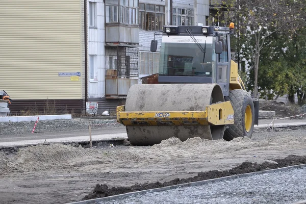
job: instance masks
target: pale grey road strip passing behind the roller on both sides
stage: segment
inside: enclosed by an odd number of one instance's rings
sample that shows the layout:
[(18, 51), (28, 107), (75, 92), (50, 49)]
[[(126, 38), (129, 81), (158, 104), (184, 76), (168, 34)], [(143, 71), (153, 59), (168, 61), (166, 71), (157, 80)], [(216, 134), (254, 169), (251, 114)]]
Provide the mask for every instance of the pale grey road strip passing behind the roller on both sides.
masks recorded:
[[(254, 128), (268, 127), (272, 119), (264, 119), (259, 121), (259, 125)], [(292, 126), (292, 125), (306, 125), (306, 119), (302, 120), (275, 120), (274, 126)], [(105, 127), (104, 129), (92, 129), (92, 140), (108, 140), (114, 138), (127, 139), (125, 127)], [(56, 133), (35, 133), (23, 135), (10, 135), (9, 137), (0, 138), (0, 146), (17, 146), (29, 145), (50, 142), (80, 142), (89, 140), (88, 130), (78, 130), (69, 132), (56, 132)]]

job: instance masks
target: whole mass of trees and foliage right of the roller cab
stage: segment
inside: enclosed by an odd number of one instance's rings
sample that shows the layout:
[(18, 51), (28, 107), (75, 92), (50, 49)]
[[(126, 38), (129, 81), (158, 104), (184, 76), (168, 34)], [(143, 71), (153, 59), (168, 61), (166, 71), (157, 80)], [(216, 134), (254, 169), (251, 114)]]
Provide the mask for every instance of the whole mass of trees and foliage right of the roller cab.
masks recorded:
[[(213, 17), (220, 25), (230, 20), (236, 24), (231, 47), (239, 52), (240, 59), (248, 62), (247, 74), (239, 73), (246, 88), (253, 90), (254, 95), (259, 92), (260, 96), (269, 98), (297, 93), (299, 103), (305, 103), (306, 1), (211, 2), (218, 4)], [(233, 10), (235, 20), (223, 17)]]

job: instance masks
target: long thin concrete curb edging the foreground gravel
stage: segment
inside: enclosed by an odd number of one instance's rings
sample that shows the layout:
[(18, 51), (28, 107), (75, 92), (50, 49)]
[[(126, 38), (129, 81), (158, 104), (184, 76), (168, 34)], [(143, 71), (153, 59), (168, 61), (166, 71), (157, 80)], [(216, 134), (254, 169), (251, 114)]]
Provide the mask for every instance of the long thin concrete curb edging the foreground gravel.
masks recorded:
[[(125, 197), (125, 196), (130, 196), (130, 195), (145, 194), (147, 192), (160, 192), (160, 191), (167, 191), (167, 190), (171, 190), (171, 189), (175, 189), (175, 188), (179, 188), (179, 187), (199, 186), (199, 185), (203, 185), (203, 184), (207, 184), (207, 183), (236, 179), (238, 177), (247, 177), (247, 176), (263, 174), (263, 173), (281, 172), (281, 171), (286, 171), (286, 170), (289, 170), (289, 169), (297, 169), (297, 168), (303, 168), (303, 167), (306, 167), (306, 164), (288, 166), (288, 167), (284, 167), (284, 168), (271, 169), (271, 170), (265, 170), (265, 171), (257, 171), (257, 172), (251, 172), (251, 173), (225, 176), (225, 177), (221, 177), (221, 178), (218, 178), (218, 179), (210, 179), (210, 180), (199, 181), (199, 182), (190, 182), (190, 183), (186, 183), (186, 184), (167, 186), (167, 187), (163, 187), (163, 188), (155, 188), (155, 189), (148, 189), (148, 190), (131, 192), (131, 193), (124, 193), (124, 194), (113, 195), (113, 196), (104, 197), (104, 198), (96, 198), (96, 199), (84, 200), (84, 201), (79, 201), (79, 202), (70, 202), (68, 204), (91, 204), (91, 203), (97, 203), (97, 202), (100, 202), (100, 201), (110, 201), (110, 200), (113, 200), (113, 199), (118, 199), (118, 198), (122, 198), (122, 197)], [(298, 202), (298, 203), (302, 204), (304, 202), (301, 202), (301, 203)], [(295, 203), (293, 203), (293, 204), (295, 204)]]

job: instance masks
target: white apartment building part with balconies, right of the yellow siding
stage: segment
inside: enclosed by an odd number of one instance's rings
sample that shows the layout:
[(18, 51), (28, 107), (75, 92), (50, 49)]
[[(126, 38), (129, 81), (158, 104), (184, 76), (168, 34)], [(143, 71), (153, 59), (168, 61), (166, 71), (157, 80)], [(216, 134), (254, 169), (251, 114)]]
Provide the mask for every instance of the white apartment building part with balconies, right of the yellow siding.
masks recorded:
[[(100, 0), (88, 2), (89, 19), (97, 19), (97, 24), (88, 28), (92, 70), (88, 100), (98, 102), (100, 112), (124, 104), (132, 85), (158, 73), (161, 36), (155, 36), (157, 31), (165, 24), (206, 25), (210, 13), (209, 0), (105, 0), (103, 4)], [(151, 53), (154, 37), (159, 47)]]

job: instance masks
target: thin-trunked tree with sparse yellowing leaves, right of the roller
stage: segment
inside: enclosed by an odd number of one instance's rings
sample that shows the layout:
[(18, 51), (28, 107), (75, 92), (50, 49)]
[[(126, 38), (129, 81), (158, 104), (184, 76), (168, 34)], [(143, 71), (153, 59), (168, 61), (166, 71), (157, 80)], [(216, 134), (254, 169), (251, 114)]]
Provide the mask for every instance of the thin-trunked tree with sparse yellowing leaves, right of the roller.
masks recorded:
[(239, 0), (237, 16), (239, 35), (244, 36), (254, 73), (254, 97), (258, 97), (258, 71), (261, 50), (273, 33), (286, 33), (289, 38), (305, 24), (304, 1)]

